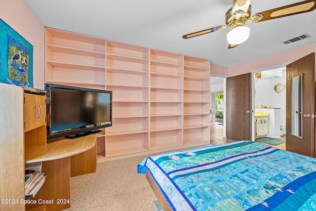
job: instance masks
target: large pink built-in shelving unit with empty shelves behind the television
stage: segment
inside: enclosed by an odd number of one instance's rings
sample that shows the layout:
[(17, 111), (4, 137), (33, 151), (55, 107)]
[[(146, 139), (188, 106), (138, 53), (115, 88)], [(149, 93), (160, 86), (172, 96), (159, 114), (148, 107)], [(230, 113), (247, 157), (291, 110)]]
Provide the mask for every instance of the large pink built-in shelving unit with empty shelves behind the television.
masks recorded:
[(45, 82), (113, 91), (98, 159), (209, 143), (210, 61), (46, 28)]

